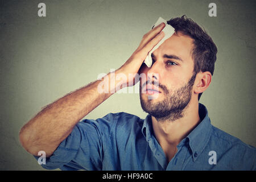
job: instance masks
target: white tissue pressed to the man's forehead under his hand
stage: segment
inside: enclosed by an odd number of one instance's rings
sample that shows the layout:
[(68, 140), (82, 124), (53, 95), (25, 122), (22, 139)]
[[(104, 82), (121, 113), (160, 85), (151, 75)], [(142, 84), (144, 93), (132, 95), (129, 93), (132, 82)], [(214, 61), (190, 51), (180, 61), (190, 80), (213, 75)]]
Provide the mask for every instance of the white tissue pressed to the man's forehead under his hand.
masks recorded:
[(144, 60), (144, 63), (147, 65), (148, 68), (151, 67), (151, 65), (152, 65), (151, 53), (154, 52), (155, 49), (157, 49), (164, 42), (164, 40), (170, 38), (175, 32), (174, 27), (170, 26), (170, 24), (167, 24), (167, 21), (161, 17), (159, 17), (159, 19), (156, 21), (156, 23), (154, 24), (154, 27), (158, 26), (162, 22), (164, 22), (164, 24), (166, 24), (166, 26), (162, 30), (164, 32), (164, 37), (163, 37), (163, 39), (160, 40), (160, 42), (158, 44), (155, 45), (155, 47), (152, 48), (152, 50), (150, 52), (148, 52), (148, 55), (147, 55), (146, 59)]

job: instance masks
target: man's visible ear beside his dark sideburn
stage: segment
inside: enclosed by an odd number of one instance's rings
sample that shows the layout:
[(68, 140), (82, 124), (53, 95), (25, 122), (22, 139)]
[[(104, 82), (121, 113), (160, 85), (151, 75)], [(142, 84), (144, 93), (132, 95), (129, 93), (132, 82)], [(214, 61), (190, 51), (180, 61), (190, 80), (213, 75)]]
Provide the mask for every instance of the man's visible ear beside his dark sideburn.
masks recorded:
[(197, 73), (195, 84), (194, 84), (194, 93), (199, 94), (204, 92), (212, 81), (212, 74), (210, 72), (199, 72)]

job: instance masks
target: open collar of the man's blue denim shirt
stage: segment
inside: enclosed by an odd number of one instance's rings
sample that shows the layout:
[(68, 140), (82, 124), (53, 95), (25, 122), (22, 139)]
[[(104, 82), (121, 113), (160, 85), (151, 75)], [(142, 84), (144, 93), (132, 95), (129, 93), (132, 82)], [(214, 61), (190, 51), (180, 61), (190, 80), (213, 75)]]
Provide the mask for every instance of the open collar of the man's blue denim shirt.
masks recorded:
[[(180, 144), (184, 144), (185, 140), (189, 141), (189, 147), (192, 151), (193, 161), (195, 161), (204, 150), (210, 139), (210, 133), (212, 132), (212, 125), (210, 124), (210, 118), (208, 117), (208, 110), (203, 104), (200, 103), (199, 116), (201, 119), (199, 125), (197, 125), (195, 129), (193, 129), (191, 133), (180, 142)], [(144, 137), (146, 137), (147, 141), (151, 140), (152, 131), (152, 119), (151, 115), (148, 114), (144, 119), (142, 126), (142, 134)]]

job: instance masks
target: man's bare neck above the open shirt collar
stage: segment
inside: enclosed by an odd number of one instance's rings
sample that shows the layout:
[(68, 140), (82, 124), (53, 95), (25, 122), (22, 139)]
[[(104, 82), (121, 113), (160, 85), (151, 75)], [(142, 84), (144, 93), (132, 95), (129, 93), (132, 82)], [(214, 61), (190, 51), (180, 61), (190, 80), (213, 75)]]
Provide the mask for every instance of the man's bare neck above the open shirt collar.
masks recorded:
[(191, 101), (185, 107), (183, 111), (183, 117), (176, 119), (175, 121), (157, 121), (155, 117), (152, 117), (152, 127), (156, 139), (164, 152), (167, 154), (168, 150), (172, 148), (172, 152), (176, 151), (177, 144), (187, 137), (189, 133), (200, 123), (199, 117), (199, 102), (198, 100)]

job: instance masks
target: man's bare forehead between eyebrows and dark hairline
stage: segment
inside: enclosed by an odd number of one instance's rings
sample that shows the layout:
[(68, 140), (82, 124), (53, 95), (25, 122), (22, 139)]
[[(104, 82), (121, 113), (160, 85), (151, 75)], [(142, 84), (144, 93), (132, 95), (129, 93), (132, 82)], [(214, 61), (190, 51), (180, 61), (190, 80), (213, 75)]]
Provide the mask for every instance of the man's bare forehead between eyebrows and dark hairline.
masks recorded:
[(177, 32), (159, 47), (162, 54), (174, 54), (183, 60), (192, 59), (193, 39)]

